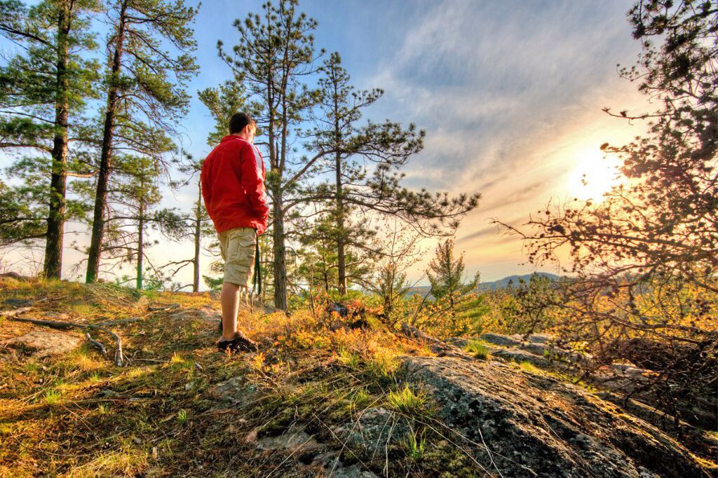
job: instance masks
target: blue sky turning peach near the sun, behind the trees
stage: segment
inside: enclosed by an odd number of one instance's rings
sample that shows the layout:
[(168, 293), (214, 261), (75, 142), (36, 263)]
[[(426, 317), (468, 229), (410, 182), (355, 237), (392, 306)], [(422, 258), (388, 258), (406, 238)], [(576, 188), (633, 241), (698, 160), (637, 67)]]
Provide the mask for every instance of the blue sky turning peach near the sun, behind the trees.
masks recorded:
[[(197, 157), (210, 151), (206, 137), (213, 124), (196, 92), (230, 78), (216, 43), (236, 44), (233, 20), (259, 11), (263, 2), (202, 2), (195, 24), (200, 72), (190, 83), (190, 112), (180, 121), (182, 146)], [(632, 4), (302, 0), (300, 9), (318, 22), (317, 47), (340, 52), (357, 88), (385, 90), (366, 118), (426, 130), (424, 150), (411, 159), (405, 184), (452, 195), (481, 193), (456, 243), (467, 271), (492, 281), (534, 270), (525, 264), (521, 241), (501, 233), (492, 220), (521, 225), (549, 200), (597, 198), (618, 180), (615, 159), (604, 159), (599, 147), (630, 141), (640, 126), (611, 118), (602, 108), (646, 107), (637, 85), (617, 74), (617, 64), (632, 65), (639, 52), (625, 16)], [(191, 187), (167, 190), (164, 205), (189, 209), (195, 197)], [(157, 263), (192, 255), (189, 243), (157, 239), (151, 252)], [(87, 238), (80, 234), (76, 240), (81, 245)], [(432, 246), (424, 244), (427, 250)], [(80, 258), (65, 251), (67, 278)], [(203, 261), (204, 269), (210, 259)], [(411, 278), (419, 279), (421, 265), (415, 270)], [(179, 278), (190, 282), (189, 268)]]

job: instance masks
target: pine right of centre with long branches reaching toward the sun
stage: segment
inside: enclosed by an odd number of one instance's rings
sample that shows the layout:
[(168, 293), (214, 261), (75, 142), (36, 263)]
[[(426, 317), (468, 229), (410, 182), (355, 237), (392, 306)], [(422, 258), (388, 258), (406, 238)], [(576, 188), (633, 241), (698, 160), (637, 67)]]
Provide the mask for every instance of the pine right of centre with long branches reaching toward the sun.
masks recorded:
[(356, 90), (341, 62), (335, 52), (322, 65), (320, 113), (309, 135), (309, 149), (325, 159), (325, 172), (333, 174), (333, 181), (313, 188), (307, 196), (326, 195), (330, 200), (327, 211), (335, 224), (338, 287), (345, 294), (347, 250), (367, 247), (373, 236), (368, 217), (398, 217), (425, 235), (443, 235), (477, 205), (478, 195), (449, 199), (446, 193), (431, 195), (402, 187), (400, 170), (423, 148), (424, 131), (388, 120), (360, 125), (364, 109), (379, 100), (383, 90)]

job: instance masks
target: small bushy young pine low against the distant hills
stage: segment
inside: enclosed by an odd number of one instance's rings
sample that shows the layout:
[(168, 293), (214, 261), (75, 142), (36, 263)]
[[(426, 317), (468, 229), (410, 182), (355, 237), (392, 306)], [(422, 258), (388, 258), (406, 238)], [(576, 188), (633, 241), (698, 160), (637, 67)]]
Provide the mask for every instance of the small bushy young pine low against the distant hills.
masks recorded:
[(444, 328), (449, 335), (465, 334), (488, 311), (484, 297), (476, 293), (479, 273), (467, 282), (464, 281), (464, 273), (464, 256), (454, 256), (454, 240), (439, 243), (426, 276), (439, 309), (448, 314), (449, 327)]

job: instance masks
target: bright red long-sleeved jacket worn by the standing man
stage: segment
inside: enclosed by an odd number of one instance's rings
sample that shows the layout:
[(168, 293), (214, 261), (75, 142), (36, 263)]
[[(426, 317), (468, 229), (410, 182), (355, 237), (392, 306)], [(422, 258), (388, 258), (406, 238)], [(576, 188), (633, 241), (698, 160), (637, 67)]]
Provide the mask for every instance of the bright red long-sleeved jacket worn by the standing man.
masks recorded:
[(239, 136), (225, 136), (202, 164), (205, 207), (218, 233), (233, 228), (267, 228), (264, 161), (256, 146)]

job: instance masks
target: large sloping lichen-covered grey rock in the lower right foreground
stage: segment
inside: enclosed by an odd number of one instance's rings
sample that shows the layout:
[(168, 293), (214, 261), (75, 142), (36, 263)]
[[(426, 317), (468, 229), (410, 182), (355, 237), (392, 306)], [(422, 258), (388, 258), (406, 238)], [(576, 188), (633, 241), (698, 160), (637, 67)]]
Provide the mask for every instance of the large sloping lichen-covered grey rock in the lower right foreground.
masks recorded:
[(460, 357), (409, 357), (404, 370), (437, 402), (477, 476), (710, 476), (658, 428), (554, 378)]

